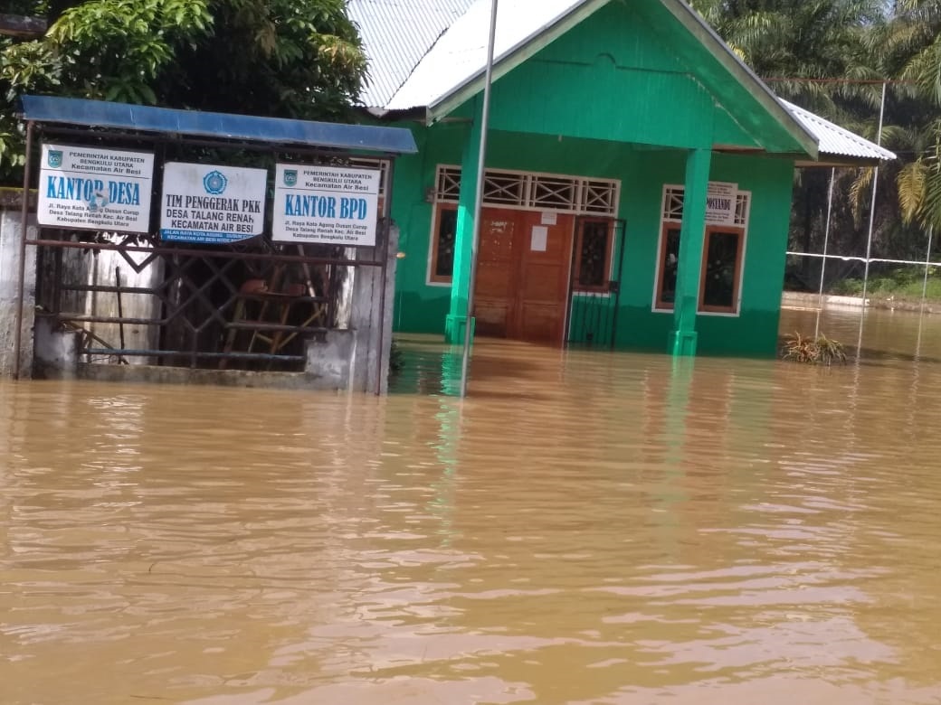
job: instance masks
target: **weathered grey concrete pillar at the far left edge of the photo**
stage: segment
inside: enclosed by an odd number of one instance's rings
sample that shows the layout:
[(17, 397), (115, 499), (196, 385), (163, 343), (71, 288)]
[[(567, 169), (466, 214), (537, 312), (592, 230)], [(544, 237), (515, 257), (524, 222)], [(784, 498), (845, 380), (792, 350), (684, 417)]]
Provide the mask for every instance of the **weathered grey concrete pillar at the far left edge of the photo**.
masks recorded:
[[(12, 377), (16, 362), (16, 317), (20, 293), (21, 196), (0, 194), (0, 377)], [(36, 238), (35, 216), (29, 217), (27, 235)], [(20, 341), (20, 377), (33, 368), (33, 321), (36, 310), (36, 248), (26, 247), (23, 327)]]

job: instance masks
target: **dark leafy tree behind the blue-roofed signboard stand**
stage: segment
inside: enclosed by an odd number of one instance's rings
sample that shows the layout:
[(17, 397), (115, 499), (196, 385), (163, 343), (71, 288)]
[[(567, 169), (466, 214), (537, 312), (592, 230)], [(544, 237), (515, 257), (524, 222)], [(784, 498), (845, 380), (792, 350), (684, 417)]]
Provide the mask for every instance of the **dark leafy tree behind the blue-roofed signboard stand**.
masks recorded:
[(366, 60), (343, 0), (19, 0), (41, 39), (0, 38), (0, 182), (32, 93), (285, 118), (349, 118)]

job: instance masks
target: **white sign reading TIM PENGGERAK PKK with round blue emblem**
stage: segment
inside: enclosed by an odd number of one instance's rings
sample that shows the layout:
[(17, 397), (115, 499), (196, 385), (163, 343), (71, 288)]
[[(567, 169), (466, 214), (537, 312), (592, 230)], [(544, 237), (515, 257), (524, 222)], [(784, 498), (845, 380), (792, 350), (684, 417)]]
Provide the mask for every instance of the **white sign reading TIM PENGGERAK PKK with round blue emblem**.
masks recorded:
[(160, 239), (223, 244), (264, 231), (266, 169), (219, 164), (164, 164)]

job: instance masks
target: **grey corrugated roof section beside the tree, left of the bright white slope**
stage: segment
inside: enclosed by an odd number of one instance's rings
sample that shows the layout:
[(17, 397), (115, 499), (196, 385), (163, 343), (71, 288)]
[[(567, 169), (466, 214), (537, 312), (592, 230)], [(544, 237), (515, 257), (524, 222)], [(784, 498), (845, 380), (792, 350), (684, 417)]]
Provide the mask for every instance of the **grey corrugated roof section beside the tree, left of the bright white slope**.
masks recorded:
[(359, 25), (369, 57), (360, 101), (385, 108), (395, 91), (449, 26), (474, 0), (350, 0), (347, 12)]

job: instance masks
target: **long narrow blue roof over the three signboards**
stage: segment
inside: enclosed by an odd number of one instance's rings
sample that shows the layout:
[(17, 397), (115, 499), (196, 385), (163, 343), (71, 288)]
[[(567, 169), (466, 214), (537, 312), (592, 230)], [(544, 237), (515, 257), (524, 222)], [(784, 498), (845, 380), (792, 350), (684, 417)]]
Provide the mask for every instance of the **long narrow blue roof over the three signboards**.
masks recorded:
[(392, 154), (413, 154), (418, 151), (411, 131), (400, 127), (203, 113), (197, 110), (54, 96), (22, 96), (20, 105), (23, 118), (36, 122)]

